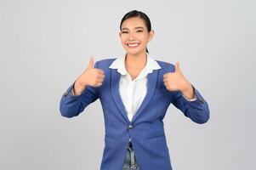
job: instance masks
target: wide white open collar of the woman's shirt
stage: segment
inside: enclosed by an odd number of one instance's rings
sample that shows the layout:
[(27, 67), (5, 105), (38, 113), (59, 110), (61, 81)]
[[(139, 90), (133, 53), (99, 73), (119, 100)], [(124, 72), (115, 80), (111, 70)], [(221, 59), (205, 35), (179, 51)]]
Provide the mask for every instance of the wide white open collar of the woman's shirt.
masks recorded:
[[(122, 57), (115, 59), (112, 64), (109, 66), (111, 69), (117, 69), (117, 72), (122, 74), (123, 76), (127, 75), (128, 72), (126, 71), (125, 68), (125, 58), (127, 54), (124, 54)], [(150, 54), (146, 53), (146, 65), (143, 68), (142, 71), (140, 71), (139, 76), (136, 77), (135, 79), (143, 78), (147, 74), (151, 73), (153, 70), (158, 70), (161, 69), (162, 67), (158, 65), (156, 60), (152, 59)]]

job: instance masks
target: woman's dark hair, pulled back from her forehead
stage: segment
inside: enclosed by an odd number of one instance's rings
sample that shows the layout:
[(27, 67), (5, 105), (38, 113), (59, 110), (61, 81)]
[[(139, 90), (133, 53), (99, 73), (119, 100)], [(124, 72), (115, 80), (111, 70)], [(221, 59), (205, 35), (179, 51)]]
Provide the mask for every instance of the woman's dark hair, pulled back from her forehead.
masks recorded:
[[(120, 23), (120, 31), (122, 29), (121, 28), (122, 22), (124, 20), (128, 20), (129, 18), (132, 18), (132, 17), (139, 17), (140, 19), (144, 20), (147, 31), (151, 31), (151, 20), (150, 20), (150, 18), (145, 13), (143, 13), (141, 11), (138, 11), (138, 10), (132, 10), (132, 11), (128, 12), (127, 14), (125, 14), (122, 17), (122, 20), (121, 20), (121, 23)], [(148, 51), (147, 48), (146, 48), (146, 52), (149, 54), (149, 51)]]

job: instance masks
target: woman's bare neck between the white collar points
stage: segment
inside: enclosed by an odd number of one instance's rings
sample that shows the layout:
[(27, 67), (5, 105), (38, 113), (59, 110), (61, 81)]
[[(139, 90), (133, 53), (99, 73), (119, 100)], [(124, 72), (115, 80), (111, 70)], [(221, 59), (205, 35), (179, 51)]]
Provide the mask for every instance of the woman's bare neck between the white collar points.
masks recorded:
[(144, 68), (147, 62), (146, 53), (126, 54), (125, 65), (127, 68)]

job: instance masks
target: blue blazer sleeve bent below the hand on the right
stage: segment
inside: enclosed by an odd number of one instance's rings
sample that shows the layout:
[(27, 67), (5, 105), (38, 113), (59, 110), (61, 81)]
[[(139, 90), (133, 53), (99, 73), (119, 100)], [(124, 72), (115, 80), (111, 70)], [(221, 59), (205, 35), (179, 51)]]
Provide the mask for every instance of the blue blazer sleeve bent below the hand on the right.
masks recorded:
[(173, 105), (184, 113), (185, 116), (190, 117), (193, 122), (202, 124), (208, 122), (210, 111), (208, 102), (202, 98), (199, 91), (192, 85), (196, 94), (196, 100), (189, 101), (183, 97), (181, 92), (176, 91), (172, 99)]

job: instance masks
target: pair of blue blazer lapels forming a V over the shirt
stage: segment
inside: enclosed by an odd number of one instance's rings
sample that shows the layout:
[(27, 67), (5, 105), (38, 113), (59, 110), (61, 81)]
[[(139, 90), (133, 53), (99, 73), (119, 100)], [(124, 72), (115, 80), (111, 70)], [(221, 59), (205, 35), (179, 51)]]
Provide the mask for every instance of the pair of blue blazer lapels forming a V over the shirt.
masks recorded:
[[(153, 70), (151, 73), (147, 75), (147, 93), (145, 95), (145, 98), (143, 99), (141, 105), (139, 105), (138, 111), (136, 111), (133, 119), (131, 122), (134, 122), (134, 119), (139, 116), (139, 114), (145, 109), (145, 106), (148, 105), (148, 103), (151, 100), (152, 95), (154, 94), (155, 88), (156, 88), (156, 82), (157, 82), (157, 73), (158, 70)], [(130, 123), (125, 105), (122, 103), (121, 96), (119, 94), (119, 82), (120, 82), (121, 74), (117, 72), (117, 69), (111, 69), (111, 95), (114, 99), (118, 110), (121, 112), (122, 117), (126, 120), (126, 122)]]

